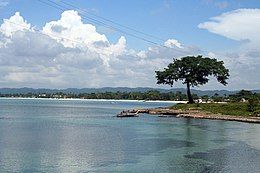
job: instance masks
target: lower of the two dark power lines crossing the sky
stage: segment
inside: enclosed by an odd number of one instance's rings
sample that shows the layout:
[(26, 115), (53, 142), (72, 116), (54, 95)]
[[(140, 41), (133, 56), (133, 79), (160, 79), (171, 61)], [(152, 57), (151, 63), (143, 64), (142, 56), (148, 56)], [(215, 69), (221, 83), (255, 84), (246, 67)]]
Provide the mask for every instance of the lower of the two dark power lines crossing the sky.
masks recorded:
[[(50, 7), (56, 8), (56, 9), (58, 9), (58, 10), (61, 10), (61, 11), (70, 10), (70, 9), (68, 9), (67, 7), (64, 7), (64, 6), (62, 6), (62, 5), (60, 5), (60, 4), (56, 3), (56, 2), (53, 2), (53, 1), (51, 1), (51, 0), (47, 0), (49, 3), (48, 3), (48, 2), (45, 2), (45, 1), (43, 1), (43, 0), (38, 0), (38, 1), (41, 2), (41, 3), (43, 3), (43, 4), (45, 4), (45, 5), (48, 5), (48, 6), (50, 6)], [(50, 3), (51, 3), (51, 4), (50, 4)], [(54, 4), (54, 5), (53, 5), (53, 4)], [(151, 43), (151, 44), (160, 46), (160, 47), (168, 48), (168, 47), (166, 47), (166, 46), (164, 46), (164, 45), (161, 45), (161, 44), (159, 44), (159, 43), (157, 43), (157, 42), (151, 41), (151, 40), (146, 39), (146, 38), (144, 38), (144, 37), (137, 36), (137, 35), (135, 35), (135, 34), (131, 34), (131, 33), (129, 33), (129, 32), (126, 32), (126, 31), (124, 31), (124, 30), (121, 30), (121, 29), (119, 29), (119, 28), (116, 28), (116, 27), (114, 27), (114, 26), (111, 26), (111, 25), (109, 25), (109, 24), (106, 24), (106, 23), (104, 23), (104, 22), (102, 22), (102, 21), (99, 21), (99, 20), (97, 20), (97, 19), (94, 19), (94, 18), (92, 18), (92, 17), (85, 16), (84, 14), (81, 14), (81, 17), (82, 17), (83, 19), (85, 19), (85, 20), (89, 20), (89, 21), (92, 21), (92, 22), (94, 22), (94, 23), (101, 24), (101, 25), (103, 25), (103, 26), (105, 26), (105, 27), (107, 27), (107, 28), (116, 30), (116, 31), (121, 32), (121, 33), (123, 33), (123, 34), (125, 34), (125, 35), (132, 36), (132, 37), (134, 37), (134, 38), (140, 39), (140, 40), (142, 40), (142, 41), (145, 41), (145, 42), (148, 42), (148, 43)]]

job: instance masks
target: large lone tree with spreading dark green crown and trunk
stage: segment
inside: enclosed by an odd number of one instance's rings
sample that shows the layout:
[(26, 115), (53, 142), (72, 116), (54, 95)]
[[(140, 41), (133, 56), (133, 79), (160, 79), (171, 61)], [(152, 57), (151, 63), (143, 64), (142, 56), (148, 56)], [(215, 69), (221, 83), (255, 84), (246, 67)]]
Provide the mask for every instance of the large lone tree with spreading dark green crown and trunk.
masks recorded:
[(190, 88), (204, 85), (209, 81), (209, 76), (217, 78), (218, 82), (227, 85), (229, 70), (225, 68), (223, 61), (199, 56), (187, 56), (181, 59), (173, 59), (163, 71), (155, 71), (157, 84), (168, 84), (171, 87), (174, 82), (182, 81), (187, 86), (189, 103), (194, 103)]

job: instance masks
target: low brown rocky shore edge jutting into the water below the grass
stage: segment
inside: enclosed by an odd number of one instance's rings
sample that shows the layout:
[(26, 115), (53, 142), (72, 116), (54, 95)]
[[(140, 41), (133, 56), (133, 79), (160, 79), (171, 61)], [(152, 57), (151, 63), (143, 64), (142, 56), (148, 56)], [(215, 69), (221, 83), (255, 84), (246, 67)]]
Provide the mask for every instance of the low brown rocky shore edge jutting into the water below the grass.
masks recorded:
[(117, 117), (138, 117), (139, 114), (158, 115), (159, 117), (177, 117), (177, 118), (196, 118), (196, 119), (213, 119), (226, 121), (240, 121), (247, 123), (259, 123), (260, 117), (243, 117), (234, 115), (213, 114), (211, 112), (199, 110), (176, 110), (170, 108), (152, 108), (152, 109), (133, 109), (124, 110)]

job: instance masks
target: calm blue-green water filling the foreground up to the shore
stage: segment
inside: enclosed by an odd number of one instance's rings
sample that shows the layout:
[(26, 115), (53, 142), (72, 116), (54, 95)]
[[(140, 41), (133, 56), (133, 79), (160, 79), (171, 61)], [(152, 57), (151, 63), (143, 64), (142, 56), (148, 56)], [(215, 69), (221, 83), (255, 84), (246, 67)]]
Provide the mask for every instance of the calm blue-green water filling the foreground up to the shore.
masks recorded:
[(0, 99), (0, 172), (260, 172), (260, 125), (114, 117), (168, 105)]

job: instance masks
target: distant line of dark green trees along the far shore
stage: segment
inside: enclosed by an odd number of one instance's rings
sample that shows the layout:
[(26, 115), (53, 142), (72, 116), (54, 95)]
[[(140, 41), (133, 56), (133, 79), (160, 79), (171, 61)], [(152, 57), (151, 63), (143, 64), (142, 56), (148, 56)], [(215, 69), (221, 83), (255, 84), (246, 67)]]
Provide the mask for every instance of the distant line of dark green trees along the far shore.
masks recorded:
[[(119, 99), (119, 100), (187, 100), (187, 95), (182, 92), (160, 92), (151, 90), (147, 92), (97, 92), (97, 93), (26, 93), (26, 94), (1, 94), (0, 97), (24, 97), (24, 98), (80, 98), (80, 99)], [(219, 96), (217, 93), (213, 96), (198, 96), (193, 94), (194, 99), (203, 101), (233, 101), (249, 100), (255, 98), (260, 100), (260, 93), (252, 93), (251, 91), (241, 90), (233, 95)]]

